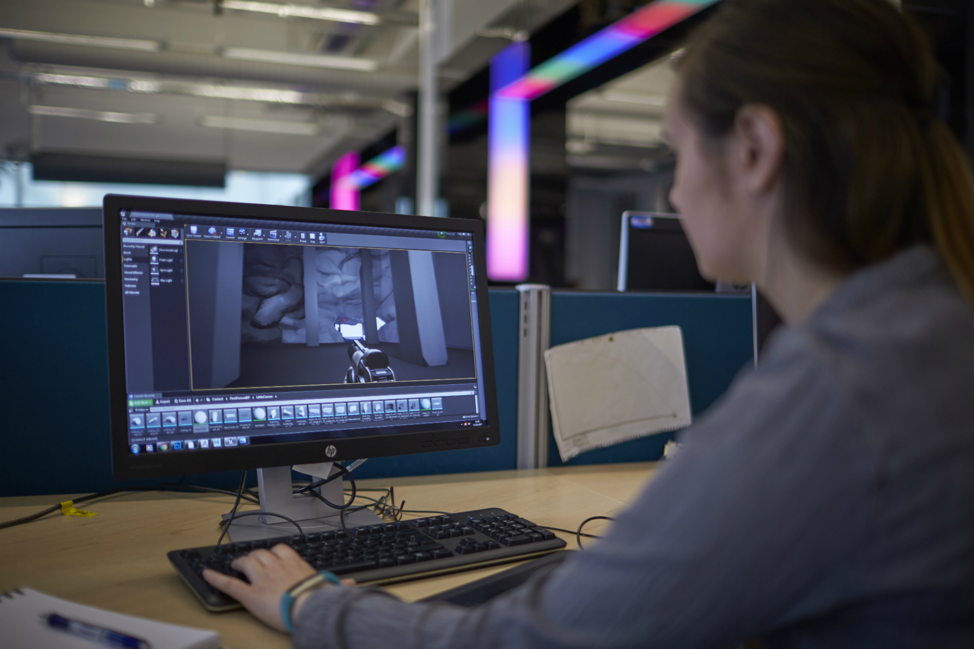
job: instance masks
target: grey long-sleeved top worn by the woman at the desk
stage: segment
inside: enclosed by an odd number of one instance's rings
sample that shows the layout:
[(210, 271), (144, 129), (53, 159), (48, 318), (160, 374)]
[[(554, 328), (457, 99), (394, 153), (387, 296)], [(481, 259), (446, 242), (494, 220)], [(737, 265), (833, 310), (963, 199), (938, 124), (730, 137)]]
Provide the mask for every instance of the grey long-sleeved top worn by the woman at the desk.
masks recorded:
[(545, 579), (474, 608), (321, 590), (294, 646), (974, 647), (974, 310), (933, 250), (854, 273), (682, 442)]

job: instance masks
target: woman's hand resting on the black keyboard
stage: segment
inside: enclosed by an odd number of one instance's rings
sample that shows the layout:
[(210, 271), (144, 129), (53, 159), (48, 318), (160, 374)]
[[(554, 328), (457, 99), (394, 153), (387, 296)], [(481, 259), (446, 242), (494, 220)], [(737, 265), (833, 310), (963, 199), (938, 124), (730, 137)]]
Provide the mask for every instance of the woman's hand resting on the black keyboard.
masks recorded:
[[(284, 631), (281, 622), (281, 595), (302, 579), (317, 572), (290, 546), (279, 544), (270, 550), (254, 550), (230, 564), (250, 580), (241, 579), (206, 568), (203, 578), (216, 588), (244, 604), (244, 608), (264, 624)], [(298, 597), (291, 609), (291, 619), (297, 618), (300, 605), (307, 595)]]

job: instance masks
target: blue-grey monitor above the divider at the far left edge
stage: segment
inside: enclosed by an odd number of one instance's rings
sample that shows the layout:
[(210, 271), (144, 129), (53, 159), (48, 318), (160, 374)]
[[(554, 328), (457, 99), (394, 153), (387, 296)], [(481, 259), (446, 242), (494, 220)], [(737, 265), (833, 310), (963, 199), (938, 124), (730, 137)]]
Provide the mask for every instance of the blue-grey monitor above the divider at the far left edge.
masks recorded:
[(0, 277), (104, 277), (100, 207), (0, 209)]

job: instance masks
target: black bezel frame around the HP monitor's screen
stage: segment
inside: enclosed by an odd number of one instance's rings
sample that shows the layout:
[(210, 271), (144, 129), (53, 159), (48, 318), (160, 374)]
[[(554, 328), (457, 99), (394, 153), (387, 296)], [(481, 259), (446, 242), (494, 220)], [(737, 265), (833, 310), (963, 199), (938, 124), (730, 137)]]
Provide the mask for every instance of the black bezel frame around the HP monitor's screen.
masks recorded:
[[(346, 211), (319, 207), (294, 207), (254, 203), (106, 195), (102, 203), (105, 252), (105, 310), (108, 336), (108, 378), (111, 409), (112, 471), (118, 480), (211, 473), (287, 466), (313, 462), (341, 461), (359, 457), (382, 457), (433, 451), (454, 451), (458, 446), (435, 446), (440, 440), (468, 437), (467, 450), (494, 447), (501, 442), (494, 378), (494, 346), (490, 328), (487, 268), (483, 224), (471, 219), (434, 218), (380, 212)], [(480, 325), (481, 368), (487, 423), (479, 427), (417, 432), (386, 433), (358, 438), (337, 438), (282, 442), (220, 450), (169, 451), (132, 454), (129, 445), (128, 389), (122, 306), (122, 209), (147, 212), (184, 213), (218, 217), (244, 217), (271, 221), (306, 221), (338, 225), (407, 228), (417, 230), (469, 232), (473, 235), (474, 272)], [(363, 223), (363, 216), (367, 222)], [(415, 424), (410, 424), (415, 425)], [(423, 442), (434, 443), (424, 448)], [(334, 454), (326, 449), (334, 447)]]

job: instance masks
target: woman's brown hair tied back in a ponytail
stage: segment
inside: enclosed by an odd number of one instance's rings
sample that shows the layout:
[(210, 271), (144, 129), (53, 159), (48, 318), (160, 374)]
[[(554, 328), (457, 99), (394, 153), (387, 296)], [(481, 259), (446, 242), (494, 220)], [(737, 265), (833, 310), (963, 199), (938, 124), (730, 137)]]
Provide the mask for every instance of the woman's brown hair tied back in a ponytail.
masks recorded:
[(889, 0), (727, 0), (677, 71), (705, 140), (744, 104), (775, 111), (800, 250), (853, 270), (932, 241), (974, 301), (974, 181), (937, 116), (930, 46)]

